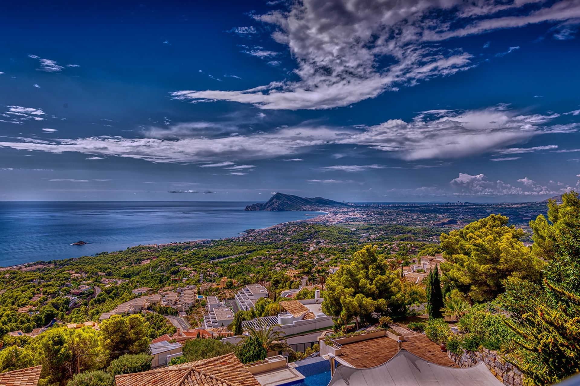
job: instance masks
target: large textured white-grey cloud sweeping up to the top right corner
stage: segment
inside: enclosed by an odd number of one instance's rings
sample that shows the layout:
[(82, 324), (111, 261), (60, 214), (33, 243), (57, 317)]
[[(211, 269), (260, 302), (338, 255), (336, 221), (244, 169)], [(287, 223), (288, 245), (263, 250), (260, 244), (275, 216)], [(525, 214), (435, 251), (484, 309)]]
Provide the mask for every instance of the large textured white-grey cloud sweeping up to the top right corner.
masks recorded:
[[(506, 16), (508, 10), (517, 16)], [(234, 101), (262, 109), (347, 106), (478, 64), (479, 59), (463, 51), (456, 40), (451, 41), (454, 47), (450, 49), (433, 42), (501, 28), (561, 23), (580, 17), (580, 6), (578, 0), (554, 4), (534, 0), (305, 0), (253, 17), (273, 30), (274, 41), (287, 46), (296, 61), (292, 75), (247, 90), (179, 90), (172, 93), (174, 98)], [(258, 54), (260, 49), (246, 51)]]

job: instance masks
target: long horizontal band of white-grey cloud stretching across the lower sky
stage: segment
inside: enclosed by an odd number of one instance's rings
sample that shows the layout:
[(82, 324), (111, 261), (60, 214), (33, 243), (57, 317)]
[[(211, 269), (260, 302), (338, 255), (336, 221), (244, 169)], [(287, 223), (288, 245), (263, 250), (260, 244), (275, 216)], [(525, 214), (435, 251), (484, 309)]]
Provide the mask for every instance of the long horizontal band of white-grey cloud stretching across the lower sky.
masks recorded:
[[(19, 112), (22, 111), (19, 109), (25, 108), (19, 106), (10, 108), (14, 108), (14, 113), (25, 117), (32, 116), (30, 111)], [(419, 113), (409, 122), (393, 119), (376, 126), (311, 126), (310, 122), (295, 127), (281, 127), (269, 132), (234, 133), (235, 135), (212, 138), (191, 134), (191, 137), (175, 141), (164, 138), (118, 136), (56, 139), (52, 142), (35, 138), (13, 138), (12, 141), (0, 142), (0, 147), (52, 153), (80, 152), (95, 156), (121, 156), (153, 162), (211, 162), (201, 167), (233, 166), (233, 161), (222, 160), (271, 159), (307, 152), (315, 146), (332, 145), (364, 146), (407, 161), (454, 159), (483, 153), (510, 155), (556, 149), (556, 145), (532, 148), (507, 146), (525, 143), (543, 134), (574, 133), (580, 127), (578, 123), (552, 124), (552, 120), (559, 116), (556, 113), (524, 114), (510, 110), (506, 105), (499, 105), (468, 111), (426, 111)], [(151, 129), (148, 133), (154, 134), (160, 130), (166, 131), (166, 129)], [(169, 131), (171, 130), (173, 129), (170, 128)], [(175, 132), (176, 130), (173, 130), (173, 133)], [(356, 165), (335, 166), (337, 170), (340, 167), (346, 171), (352, 167), (369, 168)], [(384, 166), (375, 165), (372, 168)]]

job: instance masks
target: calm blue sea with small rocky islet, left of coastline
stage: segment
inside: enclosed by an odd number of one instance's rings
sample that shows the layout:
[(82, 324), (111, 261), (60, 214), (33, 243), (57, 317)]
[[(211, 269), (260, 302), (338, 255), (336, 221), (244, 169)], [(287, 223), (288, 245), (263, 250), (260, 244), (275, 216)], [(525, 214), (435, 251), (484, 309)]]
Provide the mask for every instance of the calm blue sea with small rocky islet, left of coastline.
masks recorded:
[[(133, 245), (238, 236), (317, 212), (246, 212), (251, 203), (0, 202), (0, 266)], [(311, 218), (311, 216), (310, 216)], [(70, 245), (79, 240), (85, 245)]]

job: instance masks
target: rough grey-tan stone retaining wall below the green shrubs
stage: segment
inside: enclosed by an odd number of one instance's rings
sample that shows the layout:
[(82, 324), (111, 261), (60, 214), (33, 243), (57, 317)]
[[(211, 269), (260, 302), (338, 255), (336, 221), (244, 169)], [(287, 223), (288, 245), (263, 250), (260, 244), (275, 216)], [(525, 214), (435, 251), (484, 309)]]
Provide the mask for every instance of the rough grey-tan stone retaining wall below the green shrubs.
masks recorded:
[(447, 356), (461, 367), (470, 367), (483, 362), (490, 369), (490, 372), (507, 386), (521, 386), (523, 384), (523, 374), (520, 369), (512, 363), (507, 363), (502, 355), (496, 351), (487, 350), (487, 348), (484, 348), (483, 351), (462, 350), (459, 355), (448, 351)]

